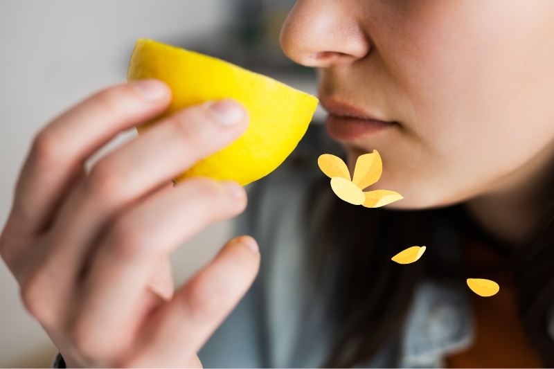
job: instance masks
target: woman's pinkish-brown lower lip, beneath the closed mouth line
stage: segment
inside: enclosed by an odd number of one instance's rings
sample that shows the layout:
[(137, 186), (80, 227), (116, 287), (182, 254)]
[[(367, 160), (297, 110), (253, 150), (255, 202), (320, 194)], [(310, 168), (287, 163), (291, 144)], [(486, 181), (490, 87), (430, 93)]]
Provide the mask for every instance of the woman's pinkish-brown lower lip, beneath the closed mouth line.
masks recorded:
[(333, 114), (329, 114), (325, 120), (329, 136), (340, 141), (354, 141), (357, 138), (390, 128), (394, 124), (382, 120), (335, 116)]

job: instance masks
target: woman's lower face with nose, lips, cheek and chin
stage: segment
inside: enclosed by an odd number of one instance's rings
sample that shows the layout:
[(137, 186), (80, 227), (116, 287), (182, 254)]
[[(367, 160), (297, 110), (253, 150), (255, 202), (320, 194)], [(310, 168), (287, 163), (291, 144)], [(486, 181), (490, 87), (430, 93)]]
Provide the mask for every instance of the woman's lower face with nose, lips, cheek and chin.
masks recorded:
[(554, 1), (299, 0), (281, 44), (316, 66), (330, 136), (379, 151), (371, 189), (425, 208), (554, 155)]

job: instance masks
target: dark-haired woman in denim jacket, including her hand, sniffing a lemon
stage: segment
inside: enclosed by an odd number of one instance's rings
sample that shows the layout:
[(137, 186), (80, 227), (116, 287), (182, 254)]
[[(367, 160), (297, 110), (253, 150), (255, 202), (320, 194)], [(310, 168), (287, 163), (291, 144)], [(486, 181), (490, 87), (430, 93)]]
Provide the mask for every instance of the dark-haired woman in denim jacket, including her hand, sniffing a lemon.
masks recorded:
[[(335, 149), (311, 129), (252, 189), (242, 224), (261, 273), (204, 363), (554, 365), (553, 16), (548, 0), (298, 1), (283, 50), (318, 69), (350, 168), (378, 150), (372, 189), (408, 211), (337, 200), (314, 166)], [(175, 294), (167, 262), (246, 207), (234, 183), (168, 184), (244, 132), (236, 102), (166, 118), (85, 174), (169, 101), (154, 80), (101, 91), (42, 129), (21, 171), (0, 251), (68, 366), (200, 366), (258, 273), (249, 236)], [(391, 262), (416, 244), (421, 260)], [(500, 292), (472, 295), (465, 278)]]

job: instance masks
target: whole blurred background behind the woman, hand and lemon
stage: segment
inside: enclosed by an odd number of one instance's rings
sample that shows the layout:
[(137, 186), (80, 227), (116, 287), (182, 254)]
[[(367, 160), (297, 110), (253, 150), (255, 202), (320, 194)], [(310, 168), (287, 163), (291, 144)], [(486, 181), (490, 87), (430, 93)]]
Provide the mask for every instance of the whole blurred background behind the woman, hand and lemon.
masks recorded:
[[(125, 82), (139, 37), (183, 46), (265, 73), (314, 94), (312, 69), (278, 45), (290, 0), (1, 0), (0, 224), (6, 222), (19, 167), (37, 130), (102, 87)], [(321, 119), (322, 111), (314, 120)], [(134, 137), (124, 132), (102, 152)], [(215, 224), (172, 255), (177, 283), (228, 239)], [(0, 367), (48, 367), (57, 350), (21, 305), (0, 262)]]

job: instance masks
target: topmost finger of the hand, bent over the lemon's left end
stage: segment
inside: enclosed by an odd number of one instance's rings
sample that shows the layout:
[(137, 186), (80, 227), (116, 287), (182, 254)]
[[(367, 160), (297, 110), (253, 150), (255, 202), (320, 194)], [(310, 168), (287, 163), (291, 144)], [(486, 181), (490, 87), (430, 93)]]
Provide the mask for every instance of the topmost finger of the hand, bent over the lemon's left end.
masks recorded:
[(21, 171), (8, 224), (25, 233), (41, 231), (84, 161), (119, 132), (161, 114), (170, 98), (170, 89), (158, 80), (120, 84), (47, 125)]

